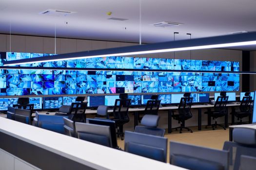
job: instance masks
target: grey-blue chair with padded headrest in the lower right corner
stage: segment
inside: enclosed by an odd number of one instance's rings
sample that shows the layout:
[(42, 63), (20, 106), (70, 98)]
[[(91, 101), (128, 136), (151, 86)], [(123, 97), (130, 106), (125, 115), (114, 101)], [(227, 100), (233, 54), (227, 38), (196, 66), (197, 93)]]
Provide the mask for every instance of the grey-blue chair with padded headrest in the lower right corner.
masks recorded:
[[(234, 170), (239, 170), (241, 155), (256, 157), (256, 129), (253, 127), (234, 128), (233, 141), (225, 141), (223, 150), (230, 152), (230, 165), (234, 166)], [(235, 162), (233, 162), (233, 155)], [(255, 166), (253, 168), (255, 169)]]

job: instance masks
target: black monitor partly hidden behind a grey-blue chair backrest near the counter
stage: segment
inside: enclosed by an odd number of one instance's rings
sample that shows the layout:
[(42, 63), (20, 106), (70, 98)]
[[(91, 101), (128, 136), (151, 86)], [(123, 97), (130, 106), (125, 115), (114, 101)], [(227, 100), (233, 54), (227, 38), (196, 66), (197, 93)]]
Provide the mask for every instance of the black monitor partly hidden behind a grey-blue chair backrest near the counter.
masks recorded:
[(110, 127), (111, 140), (112, 140), (112, 147), (113, 148), (118, 148), (115, 121), (110, 120), (110, 119), (101, 119), (101, 118), (86, 119), (86, 120), (88, 120), (88, 123), (91, 123), (91, 124), (109, 126)]

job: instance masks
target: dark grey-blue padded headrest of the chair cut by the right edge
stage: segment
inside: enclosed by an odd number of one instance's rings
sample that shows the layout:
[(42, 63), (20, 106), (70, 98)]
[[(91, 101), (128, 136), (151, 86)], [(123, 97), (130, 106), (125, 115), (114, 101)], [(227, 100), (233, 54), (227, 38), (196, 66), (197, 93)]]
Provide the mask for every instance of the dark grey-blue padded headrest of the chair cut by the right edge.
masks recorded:
[(256, 146), (256, 129), (236, 127), (233, 130), (233, 140), (242, 145)]

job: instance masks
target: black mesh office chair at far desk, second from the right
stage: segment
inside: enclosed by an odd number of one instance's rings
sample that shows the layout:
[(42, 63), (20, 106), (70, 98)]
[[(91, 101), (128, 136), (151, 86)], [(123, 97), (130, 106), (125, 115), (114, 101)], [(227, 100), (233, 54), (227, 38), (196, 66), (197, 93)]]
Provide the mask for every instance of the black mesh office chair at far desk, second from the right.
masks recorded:
[[(217, 124), (217, 118), (227, 116), (227, 114), (228, 114), (227, 109), (226, 109), (227, 102), (228, 102), (228, 96), (218, 96), (217, 100), (214, 104), (214, 110), (212, 110), (212, 111), (209, 110), (209, 111), (205, 112), (205, 114), (208, 114), (208, 116), (215, 119), (215, 123), (211, 125), (213, 130), (215, 130), (215, 128), (217, 128), (217, 126), (220, 126), (224, 130), (226, 130), (225, 126), (223, 126), (221, 124)], [(205, 126), (205, 128), (207, 128), (207, 126)]]

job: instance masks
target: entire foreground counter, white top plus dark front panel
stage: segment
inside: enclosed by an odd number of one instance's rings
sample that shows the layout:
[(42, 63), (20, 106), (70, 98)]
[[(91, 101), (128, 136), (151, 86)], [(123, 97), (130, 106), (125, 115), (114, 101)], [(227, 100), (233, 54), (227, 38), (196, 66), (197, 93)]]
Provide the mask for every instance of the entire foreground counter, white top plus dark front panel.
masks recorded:
[(0, 139), (0, 169), (19, 161), (24, 169), (42, 170), (184, 170), (1, 117)]

